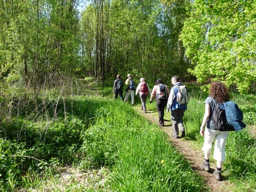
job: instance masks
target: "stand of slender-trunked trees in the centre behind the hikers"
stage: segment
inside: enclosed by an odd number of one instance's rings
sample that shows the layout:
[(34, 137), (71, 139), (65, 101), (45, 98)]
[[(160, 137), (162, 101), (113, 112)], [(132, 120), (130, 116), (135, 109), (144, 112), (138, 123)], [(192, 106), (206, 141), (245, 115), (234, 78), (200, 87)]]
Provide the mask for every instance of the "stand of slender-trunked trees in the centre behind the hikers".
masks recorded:
[(178, 37), (189, 9), (187, 0), (92, 2), (81, 19), (81, 71), (100, 80), (184, 76), (189, 62)]

